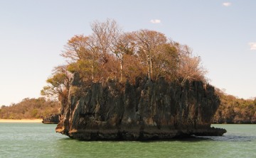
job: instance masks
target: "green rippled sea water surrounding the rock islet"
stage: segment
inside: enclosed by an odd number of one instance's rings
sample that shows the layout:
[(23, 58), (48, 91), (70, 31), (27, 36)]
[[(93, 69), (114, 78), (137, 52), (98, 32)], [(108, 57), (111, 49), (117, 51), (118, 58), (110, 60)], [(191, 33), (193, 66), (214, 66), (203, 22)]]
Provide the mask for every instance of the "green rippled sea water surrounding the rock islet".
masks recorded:
[(159, 142), (82, 142), (55, 126), (0, 123), (0, 157), (256, 157), (256, 125), (213, 125), (228, 133)]

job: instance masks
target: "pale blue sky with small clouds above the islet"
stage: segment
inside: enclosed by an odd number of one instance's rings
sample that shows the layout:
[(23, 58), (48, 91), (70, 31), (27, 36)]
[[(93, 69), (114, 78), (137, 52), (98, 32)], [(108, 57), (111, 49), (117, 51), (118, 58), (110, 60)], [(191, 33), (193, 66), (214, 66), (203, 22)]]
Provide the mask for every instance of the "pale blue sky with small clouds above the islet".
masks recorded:
[(156, 30), (193, 49), (210, 84), (238, 98), (256, 96), (255, 0), (1, 0), (0, 106), (38, 98), (63, 46), (90, 24)]

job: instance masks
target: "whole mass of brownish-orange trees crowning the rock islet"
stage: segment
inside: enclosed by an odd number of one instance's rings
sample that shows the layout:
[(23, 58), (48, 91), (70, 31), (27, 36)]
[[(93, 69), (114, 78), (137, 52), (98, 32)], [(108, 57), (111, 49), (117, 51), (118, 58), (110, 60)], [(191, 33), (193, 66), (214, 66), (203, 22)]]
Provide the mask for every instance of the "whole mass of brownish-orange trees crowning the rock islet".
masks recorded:
[[(70, 73), (80, 74), (84, 84), (134, 82), (136, 77), (167, 81), (206, 81), (206, 69), (191, 48), (155, 30), (124, 32), (116, 21), (95, 21), (90, 35), (74, 35), (61, 56), (67, 64), (57, 67), (41, 91), (45, 96), (68, 96)], [(182, 80), (181, 80), (182, 79)]]

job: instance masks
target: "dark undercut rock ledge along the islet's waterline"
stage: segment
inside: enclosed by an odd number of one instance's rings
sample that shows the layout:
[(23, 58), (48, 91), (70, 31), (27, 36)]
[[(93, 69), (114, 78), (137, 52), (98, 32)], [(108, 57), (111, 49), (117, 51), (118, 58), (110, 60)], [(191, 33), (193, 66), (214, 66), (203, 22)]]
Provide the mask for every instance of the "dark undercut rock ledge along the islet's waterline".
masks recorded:
[(221, 136), (225, 132), (222, 128), (210, 128), (208, 130), (148, 130), (148, 131), (120, 131), (120, 130), (80, 130), (70, 131), (69, 137), (86, 140), (131, 140), (131, 141), (144, 141), (144, 140), (171, 140), (174, 138), (196, 136)]

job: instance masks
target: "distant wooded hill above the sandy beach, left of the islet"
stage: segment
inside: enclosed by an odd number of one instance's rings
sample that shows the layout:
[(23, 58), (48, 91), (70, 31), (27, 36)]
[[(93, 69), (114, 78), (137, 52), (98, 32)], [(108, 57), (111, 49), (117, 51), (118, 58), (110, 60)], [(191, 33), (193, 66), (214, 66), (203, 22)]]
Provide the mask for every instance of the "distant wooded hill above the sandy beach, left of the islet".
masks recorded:
[(60, 113), (60, 104), (46, 98), (24, 98), (20, 103), (0, 108), (1, 119), (43, 118), (53, 113)]

